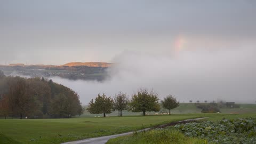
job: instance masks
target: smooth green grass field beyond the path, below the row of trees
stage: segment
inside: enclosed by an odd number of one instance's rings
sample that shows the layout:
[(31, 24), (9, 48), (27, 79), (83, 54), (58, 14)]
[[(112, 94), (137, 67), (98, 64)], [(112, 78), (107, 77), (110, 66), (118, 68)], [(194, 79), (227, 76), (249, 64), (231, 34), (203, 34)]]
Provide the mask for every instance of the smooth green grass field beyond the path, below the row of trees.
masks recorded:
[[(223, 117), (229, 119), (256, 117), (256, 105), (243, 105), (239, 109), (226, 109), (227, 113), (201, 114), (196, 112), (197, 108), (194, 107), (193, 103), (185, 103), (173, 111), (182, 112), (188, 108), (190, 111), (196, 109), (194, 110), (195, 113), (106, 118), (94, 117), (94, 115), (86, 115), (85, 113), (83, 117), (69, 119), (0, 119), (0, 133), (21, 143), (61, 143), (129, 132), (182, 119), (208, 117), (206, 120), (216, 121)], [(239, 111), (239, 113), (230, 114), (233, 111)], [(128, 114), (134, 113), (124, 113), (124, 115)], [(141, 113), (135, 114), (141, 115)]]

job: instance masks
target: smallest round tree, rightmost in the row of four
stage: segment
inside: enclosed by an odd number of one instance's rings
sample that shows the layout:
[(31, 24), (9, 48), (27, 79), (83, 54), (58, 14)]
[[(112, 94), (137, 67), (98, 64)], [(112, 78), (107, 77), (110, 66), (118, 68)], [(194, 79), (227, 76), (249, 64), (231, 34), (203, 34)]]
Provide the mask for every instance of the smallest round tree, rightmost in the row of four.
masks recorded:
[(171, 115), (171, 109), (179, 106), (179, 102), (171, 94), (167, 95), (164, 100), (161, 100), (162, 106), (169, 110), (169, 115)]

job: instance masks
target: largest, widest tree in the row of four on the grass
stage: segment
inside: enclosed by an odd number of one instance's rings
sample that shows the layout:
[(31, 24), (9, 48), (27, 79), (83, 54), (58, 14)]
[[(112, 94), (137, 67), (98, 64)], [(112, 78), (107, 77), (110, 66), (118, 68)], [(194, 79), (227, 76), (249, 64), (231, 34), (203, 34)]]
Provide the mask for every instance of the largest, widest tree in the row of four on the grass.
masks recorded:
[(133, 112), (143, 112), (143, 116), (146, 116), (146, 111), (159, 111), (160, 105), (158, 103), (158, 94), (154, 91), (148, 91), (147, 89), (140, 89), (137, 93), (134, 93), (130, 106)]

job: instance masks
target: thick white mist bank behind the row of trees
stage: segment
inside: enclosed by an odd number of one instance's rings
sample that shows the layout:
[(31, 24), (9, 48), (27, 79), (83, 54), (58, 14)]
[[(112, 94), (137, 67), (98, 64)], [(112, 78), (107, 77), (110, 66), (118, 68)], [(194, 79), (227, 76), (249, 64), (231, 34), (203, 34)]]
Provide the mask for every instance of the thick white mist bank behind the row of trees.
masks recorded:
[(105, 93), (133, 94), (154, 89), (159, 98), (173, 94), (180, 102), (225, 100), (254, 103), (256, 100), (256, 50), (253, 48), (145, 53), (124, 51), (116, 55), (110, 77), (103, 82), (71, 81), (52, 77), (78, 92), (83, 105)]

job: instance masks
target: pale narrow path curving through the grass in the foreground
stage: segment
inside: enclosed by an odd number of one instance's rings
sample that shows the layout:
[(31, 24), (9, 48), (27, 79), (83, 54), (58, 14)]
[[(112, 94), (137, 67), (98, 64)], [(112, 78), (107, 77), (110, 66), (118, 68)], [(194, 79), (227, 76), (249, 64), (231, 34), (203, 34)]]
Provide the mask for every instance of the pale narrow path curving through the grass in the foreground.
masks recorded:
[[(171, 126), (171, 125), (180, 124), (180, 123), (194, 122), (194, 121), (198, 121), (198, 120), (204, 119), (204, 118), (206, 118), (206, 117), (195, 118), (195, 119), (186, 119), (186, 120), (183, 120), (183, 121), (172, 122), (172, 123), (169, 123), (169, 124), (163, 124), (163, 125), (143, 129), (143, 130), (140, 130), (140, 131), (137, 131), (137, 132), (148, 131), (148, 130), (159, 128), (159, 127), (163, 128), (163, 127), (166, 127), (166, 126)], [(65, 142), (65, 143), (62, 143), (62, 144), (104, 144), (109, 139), (121, 137), (121, 136), (124, 136), (124, 135), (130, 135), (132, 133), (133, 132), (126, 132), (126, 133), (122, 133), (122, 134), (114, 134), (114, 135), (108, 135), (108, 136), (98, 137), (98, 138), (90, 138), (90, 139), (84, 139), (84, 140), (78, 140), (78, 141), (70, 141), (70, 142)]]

